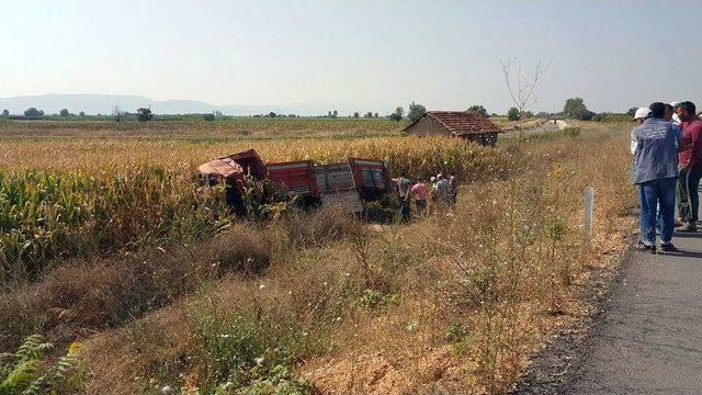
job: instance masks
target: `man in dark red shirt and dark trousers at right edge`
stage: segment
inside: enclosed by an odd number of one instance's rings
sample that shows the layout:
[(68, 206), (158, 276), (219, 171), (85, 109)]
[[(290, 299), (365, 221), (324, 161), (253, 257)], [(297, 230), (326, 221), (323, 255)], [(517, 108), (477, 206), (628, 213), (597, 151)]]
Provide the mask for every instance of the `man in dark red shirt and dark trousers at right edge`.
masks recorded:
[(682, 138), (678, 160), (678, 213), (682, 219), (680, 232), (695, 232), (700, 210), (700, 178), (702, 177), (702, 120), (695, 113), (692, 102), (684, 101), (678, 106)]

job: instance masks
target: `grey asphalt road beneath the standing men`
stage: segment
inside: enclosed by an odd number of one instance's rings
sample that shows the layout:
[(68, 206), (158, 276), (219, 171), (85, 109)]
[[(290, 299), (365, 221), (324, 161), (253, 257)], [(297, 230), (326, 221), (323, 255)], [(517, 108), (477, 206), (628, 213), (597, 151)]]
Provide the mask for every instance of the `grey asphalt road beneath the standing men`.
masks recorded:
[(702, 394), (702, 230), (634, 252), (563, 394)]

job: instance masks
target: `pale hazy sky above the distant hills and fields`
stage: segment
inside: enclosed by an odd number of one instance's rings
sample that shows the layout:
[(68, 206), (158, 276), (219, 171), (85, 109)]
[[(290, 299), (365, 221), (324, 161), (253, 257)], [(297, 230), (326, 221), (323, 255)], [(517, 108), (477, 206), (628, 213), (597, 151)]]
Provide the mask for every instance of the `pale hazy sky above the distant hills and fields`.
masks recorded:
[(0, 0), (0, 97), (506, 113), (541, 60), (528, 110), (625, 111), (700, 98), (701, 38), (699, 0)]

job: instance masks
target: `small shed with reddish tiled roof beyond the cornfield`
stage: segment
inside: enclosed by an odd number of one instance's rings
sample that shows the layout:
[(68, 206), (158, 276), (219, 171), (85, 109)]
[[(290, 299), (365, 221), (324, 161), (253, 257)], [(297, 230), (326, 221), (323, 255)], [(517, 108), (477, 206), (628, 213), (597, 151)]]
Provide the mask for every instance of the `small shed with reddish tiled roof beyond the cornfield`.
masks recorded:
[(495, 146), (502, 131), (488, 119), (473, 111), (428, 111), (405, 133), (418, 136), (458, 137), (486, 146)]

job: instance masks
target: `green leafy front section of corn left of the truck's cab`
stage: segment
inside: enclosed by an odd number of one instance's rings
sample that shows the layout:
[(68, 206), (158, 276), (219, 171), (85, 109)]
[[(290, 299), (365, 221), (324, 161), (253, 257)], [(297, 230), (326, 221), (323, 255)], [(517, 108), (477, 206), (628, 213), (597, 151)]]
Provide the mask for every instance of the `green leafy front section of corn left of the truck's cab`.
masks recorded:
[(32, 280), (55, 258), (212, 234), (216, 200), (191, 179), (152, 166), (0, 172), (0, 285)]

